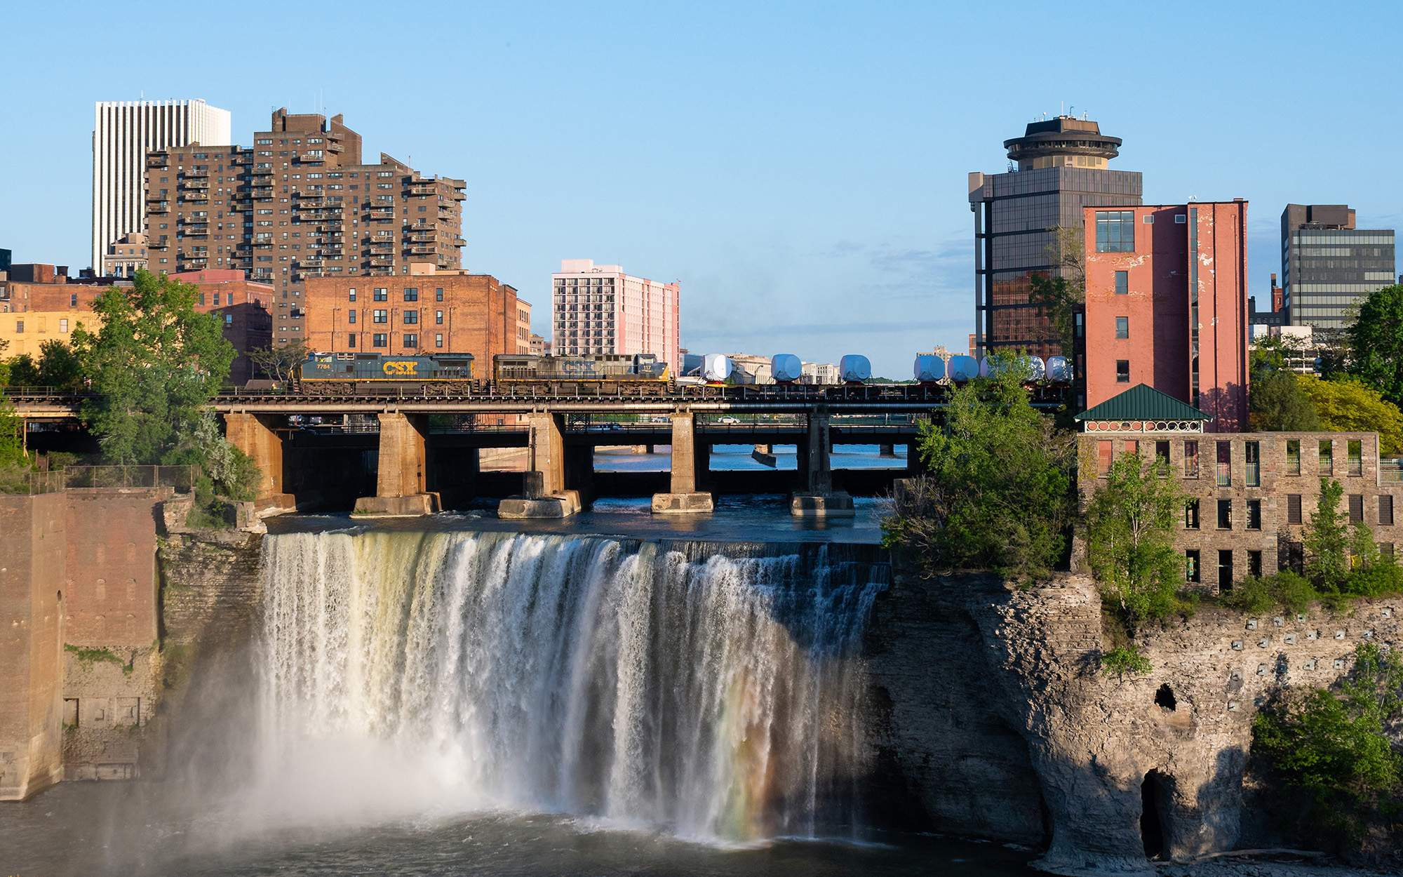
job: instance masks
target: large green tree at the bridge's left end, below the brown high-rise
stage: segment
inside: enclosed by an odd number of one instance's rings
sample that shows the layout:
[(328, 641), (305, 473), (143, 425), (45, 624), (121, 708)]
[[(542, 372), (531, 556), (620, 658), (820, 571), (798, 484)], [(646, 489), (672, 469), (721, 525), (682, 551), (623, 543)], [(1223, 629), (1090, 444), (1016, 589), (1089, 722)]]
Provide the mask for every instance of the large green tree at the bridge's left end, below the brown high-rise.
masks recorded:
[(98, 393), (83, 420), (111, 463), (156, 463), (201, 420), (219, 391), (234, 348), (223, 324), (195, 310), (198, 288), (137, 271), (132, 286), (112, 286), (93, 310), (102, 327), (73, 331), (73, 351)]

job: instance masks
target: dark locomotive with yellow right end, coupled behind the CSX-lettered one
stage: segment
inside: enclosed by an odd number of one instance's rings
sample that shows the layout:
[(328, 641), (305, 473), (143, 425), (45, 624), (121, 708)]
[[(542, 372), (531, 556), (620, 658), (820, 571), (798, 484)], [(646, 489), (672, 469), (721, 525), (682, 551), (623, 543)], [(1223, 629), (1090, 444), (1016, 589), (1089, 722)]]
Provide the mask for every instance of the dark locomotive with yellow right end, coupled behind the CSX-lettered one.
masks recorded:
[(672, 387), (666, 362), (654, 354), (595, 354), (589, 356), (536, 356), (498, 354), (492, 358), (492, 383), (502, 393), (584, 393), (606, 396), (623, 389)]

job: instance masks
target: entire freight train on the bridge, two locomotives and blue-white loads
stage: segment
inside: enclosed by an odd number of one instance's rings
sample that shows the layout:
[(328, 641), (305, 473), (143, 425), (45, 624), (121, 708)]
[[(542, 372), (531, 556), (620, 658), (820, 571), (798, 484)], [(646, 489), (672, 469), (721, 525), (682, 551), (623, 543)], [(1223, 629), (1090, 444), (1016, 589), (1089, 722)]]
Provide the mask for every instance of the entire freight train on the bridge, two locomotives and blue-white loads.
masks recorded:
[[(678, 386), (723, 384), (732, 376), (731, 359), (707, 354), (699, 368), (675, 376), (666, 362), (652, 354), (599, 354), (588, 356), (542, 356), (535, 354), (498, 354), (492, 358), (488, 379), (474, 375), (471, 354), (384, 354), (314, 352), (302, 365), (297, 390), (310, 396), (404, 391), (427, 394), (481, 393), (492, 387), (512, 394), (586, 393), (612, 394), (629, 389), (630, 394), (651, 389), (661, 394)], [(1069, 384), (1072, 365), (1065, 356), (1007, 356), (975, 359), (957, 355), (948, 362), (934, 354), (916, 355), (913, 383), (962, 384), (976, 377), (998, 375), (1000, 368), (1020, 368), (1028, 383)], [(776, 354), (770, 373), (777, 384), (800, 383), (803, 362), (793, 354)], [(871, 379), (867, 356), (849, 354), (838, 366), (843, 384), (863, 384)]]

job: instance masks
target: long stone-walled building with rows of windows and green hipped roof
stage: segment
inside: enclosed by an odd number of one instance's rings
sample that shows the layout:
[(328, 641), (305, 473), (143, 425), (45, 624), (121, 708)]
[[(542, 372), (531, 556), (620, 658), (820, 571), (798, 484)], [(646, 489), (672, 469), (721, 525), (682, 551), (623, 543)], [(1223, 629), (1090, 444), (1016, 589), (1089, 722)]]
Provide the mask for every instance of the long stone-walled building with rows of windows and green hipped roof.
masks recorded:
[(1152, 393), (1139, 384), (1078, 415), (1086, 429), (1078, 469), (1097, 476), (1079, 478), (1080, 500), (1085, 507), (1122, 453), (1167, 457), (1164, 477), (1191, 498), (1174, 535), (1190, 584), (1221, 592), (1249, 573), (1299, 568), (1320, 478), (1340, 481), (1340, 511), (1372, 528), (1382, 553), (1403, 540), (1395, 523), (1403, 473), (1379, 459), (1378, 432), (1197, 432), (1204, 414)]

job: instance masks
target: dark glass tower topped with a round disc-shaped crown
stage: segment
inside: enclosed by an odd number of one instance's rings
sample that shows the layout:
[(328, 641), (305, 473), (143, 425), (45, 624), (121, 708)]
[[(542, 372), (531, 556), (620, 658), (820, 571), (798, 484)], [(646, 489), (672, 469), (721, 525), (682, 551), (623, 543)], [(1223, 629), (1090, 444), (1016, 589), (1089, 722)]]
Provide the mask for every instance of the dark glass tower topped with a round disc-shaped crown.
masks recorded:
[(1141, 174), (1107, 167), (1121, 140), (1103, 135), (1087, 119), (1063, 115), (1031, 122), (1021, 138), (1003, 146), (1009, 150), (1007, 173), (969, 174), (975, 352), (982, 356), (992, 349), (1023, 348), (1038, 356), (1058, 355), (1061, 338), (1052, 320), (1028, 302), (1030, 278), (1069, 276), (1056, 258), (1055, 229), (1079, 233), (1087, 206), (1138, 206)]

